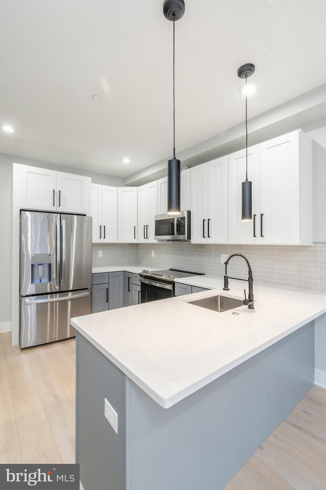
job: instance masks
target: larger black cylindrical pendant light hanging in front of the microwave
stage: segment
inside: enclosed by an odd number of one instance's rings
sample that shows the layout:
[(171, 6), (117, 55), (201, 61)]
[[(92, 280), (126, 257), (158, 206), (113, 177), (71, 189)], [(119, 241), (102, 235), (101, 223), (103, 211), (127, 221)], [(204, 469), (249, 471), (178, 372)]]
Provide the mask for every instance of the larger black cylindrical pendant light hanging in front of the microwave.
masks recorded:
[(175, 157), (174, 23), (184, 14), (183, 0), (165, 0), (163, 13), (173, 22), (173, 157), (168, 161), (168, 214), (180, 214), (180, 160)]

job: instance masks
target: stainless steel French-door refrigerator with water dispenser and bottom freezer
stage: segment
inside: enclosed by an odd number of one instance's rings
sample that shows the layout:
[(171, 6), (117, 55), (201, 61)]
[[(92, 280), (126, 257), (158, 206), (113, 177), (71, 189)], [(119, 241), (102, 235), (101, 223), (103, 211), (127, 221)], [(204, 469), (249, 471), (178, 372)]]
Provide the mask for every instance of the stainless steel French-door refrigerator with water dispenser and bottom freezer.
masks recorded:
[(75, 336), (70, 318), (91, 313), (92, 218), (20, 213), (20, 347)]

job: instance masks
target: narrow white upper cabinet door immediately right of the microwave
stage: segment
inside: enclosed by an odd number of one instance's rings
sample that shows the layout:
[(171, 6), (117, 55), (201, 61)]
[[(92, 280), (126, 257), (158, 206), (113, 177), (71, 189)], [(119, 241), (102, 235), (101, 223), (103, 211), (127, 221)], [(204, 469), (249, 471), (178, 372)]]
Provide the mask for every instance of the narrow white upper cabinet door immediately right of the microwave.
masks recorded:
[(192, 243), (206, 243), (207, 238), (207, 166), (205, 163), (191, 169)]

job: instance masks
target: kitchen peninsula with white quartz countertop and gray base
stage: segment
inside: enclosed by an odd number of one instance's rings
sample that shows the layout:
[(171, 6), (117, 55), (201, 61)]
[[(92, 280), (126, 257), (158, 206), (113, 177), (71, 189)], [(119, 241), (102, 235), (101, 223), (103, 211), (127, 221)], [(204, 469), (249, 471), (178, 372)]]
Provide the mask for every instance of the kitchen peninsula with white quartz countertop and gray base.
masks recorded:
[(242, 299), (237, 281), (182, 282), (219, 287), (71, 321), (85, 490), (222, 490), (314, 383), (326, 295), (259, 286), (255, 310), (217, 313), (189, 302)]

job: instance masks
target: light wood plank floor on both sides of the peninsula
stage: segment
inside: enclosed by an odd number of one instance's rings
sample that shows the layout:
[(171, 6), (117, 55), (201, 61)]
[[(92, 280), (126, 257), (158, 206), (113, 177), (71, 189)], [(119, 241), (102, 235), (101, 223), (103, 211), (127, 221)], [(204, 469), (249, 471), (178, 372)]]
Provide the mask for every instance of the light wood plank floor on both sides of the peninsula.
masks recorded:
[[(20, 350), (0, 334), (0, 463), (73, 463), (74, 409), (75, 339)], [(326, 390), (314, 386), (225, 490), (326, 490)]]

